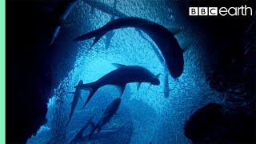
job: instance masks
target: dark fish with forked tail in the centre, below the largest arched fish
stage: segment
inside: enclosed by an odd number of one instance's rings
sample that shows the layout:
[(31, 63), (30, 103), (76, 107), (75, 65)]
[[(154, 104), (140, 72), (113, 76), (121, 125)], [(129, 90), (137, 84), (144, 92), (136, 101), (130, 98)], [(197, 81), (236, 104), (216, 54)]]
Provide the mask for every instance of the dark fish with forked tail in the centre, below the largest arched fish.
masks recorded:
[(158, 79), (160, 74), (154, 75), (152, 72), (150, 72), (150, 70), (147, 70), (145, 67), (126, 66), (118, 63), (113, 63), (113, 65), (116, 66), (118, 69), (113, 70), (110, 73), (102, 76), (102, 78), (99, 78), (97, 81), (74, 86), (76, 89), (90, 90), (90, 94), (84, 106), (86, 106), (87, 102), (90, 101), (90, 98), (92, 98), (98, 88), (102, 86), (118, 86), (122, 96), (123, 91), (126, 88), (126, 84), (130, 82), (148, 82), (150, 83), (150, 85), (160, 85), (160, 81)]

